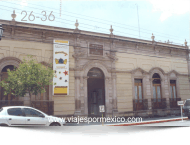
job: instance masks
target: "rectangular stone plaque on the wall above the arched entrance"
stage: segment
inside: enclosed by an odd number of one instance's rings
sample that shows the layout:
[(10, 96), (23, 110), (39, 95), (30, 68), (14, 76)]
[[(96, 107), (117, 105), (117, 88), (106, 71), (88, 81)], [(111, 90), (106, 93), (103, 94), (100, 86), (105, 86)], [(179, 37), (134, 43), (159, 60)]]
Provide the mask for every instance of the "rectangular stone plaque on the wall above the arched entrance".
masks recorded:
[(89, 53), (94, 55), (103, 55), (103, 45), (90, 44)]

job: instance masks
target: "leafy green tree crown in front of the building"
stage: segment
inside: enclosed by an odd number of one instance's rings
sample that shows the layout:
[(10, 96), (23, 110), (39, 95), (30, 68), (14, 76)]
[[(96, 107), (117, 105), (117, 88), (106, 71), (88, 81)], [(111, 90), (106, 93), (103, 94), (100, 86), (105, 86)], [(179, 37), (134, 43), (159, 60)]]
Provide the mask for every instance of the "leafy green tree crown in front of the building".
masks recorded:
[(7, 70), (8, 78), (0, 82), (0, 86), (4, 88), (4, 95), (11, 93), (15, 97), (24, 97), (29, 93), (31, 100), (32, 94), (44, 93), (45, 87), (53, 84), (52, 64), (47, 67), (30, 55), (27, 58), (23, 59), (18, 68), (14, 68), (13, 71)]

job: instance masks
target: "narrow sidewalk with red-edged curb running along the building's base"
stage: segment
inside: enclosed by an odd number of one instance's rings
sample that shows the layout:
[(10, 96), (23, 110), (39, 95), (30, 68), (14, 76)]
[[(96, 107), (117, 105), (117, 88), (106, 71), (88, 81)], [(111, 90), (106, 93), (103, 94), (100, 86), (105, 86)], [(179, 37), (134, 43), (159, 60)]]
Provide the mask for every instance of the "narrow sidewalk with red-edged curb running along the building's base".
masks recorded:
[[(134, 122), (134, 123), (127, 123), (127, 122), (104, 122), (104, 126), (132, 126), (132, 125), (143, 125), (143, 124), (151, 124), (151, 123), (163, 123), (163, 122), (170, 122), (170, 121), (180, 121), (181, 116), (167, 116), (167, 117), (155, 117), (155, 118), (142, 118), (142, 122)], [(183, 117), (183, 120), (188, 120), (188, 117)], [(101, 125), (102, 122), (67, 122), (66, 126), (88, 126), (88, 125)]]

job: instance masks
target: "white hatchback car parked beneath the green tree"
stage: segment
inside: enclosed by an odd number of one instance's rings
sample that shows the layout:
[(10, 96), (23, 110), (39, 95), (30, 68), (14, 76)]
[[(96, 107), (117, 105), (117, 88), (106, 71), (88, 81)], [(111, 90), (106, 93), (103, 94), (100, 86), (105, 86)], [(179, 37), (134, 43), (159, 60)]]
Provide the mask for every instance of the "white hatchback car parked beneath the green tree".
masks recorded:
[(49, 116), (28, 106), (9, 106), (0, 109), (0, 126), (64, 126), (65, 120)]

